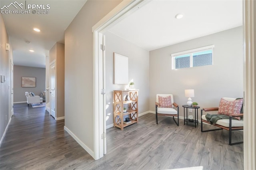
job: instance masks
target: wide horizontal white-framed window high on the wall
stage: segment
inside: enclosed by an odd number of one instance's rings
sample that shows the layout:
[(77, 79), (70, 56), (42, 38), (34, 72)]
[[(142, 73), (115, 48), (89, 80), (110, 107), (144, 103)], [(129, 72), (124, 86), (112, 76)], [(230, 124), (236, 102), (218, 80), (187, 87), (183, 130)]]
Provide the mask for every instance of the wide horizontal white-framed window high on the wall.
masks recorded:
[(172, 54), (172, 69), (212, 65), (214, 45)]

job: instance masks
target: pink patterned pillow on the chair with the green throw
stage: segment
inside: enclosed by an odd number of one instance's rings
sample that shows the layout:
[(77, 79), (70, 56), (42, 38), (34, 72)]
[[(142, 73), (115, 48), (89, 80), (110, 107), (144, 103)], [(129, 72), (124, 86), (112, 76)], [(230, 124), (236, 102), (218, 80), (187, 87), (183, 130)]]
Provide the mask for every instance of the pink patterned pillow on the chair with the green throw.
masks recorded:
[[(230, 114), (240, 114), (242, 106), (243, 106), (243, 99), (227, 101), (221, 98), (218, 114), (227, 115), (227, 116), (229, 116)], [(240, 117), (234, 117), (234, 118), (241, 120)]]

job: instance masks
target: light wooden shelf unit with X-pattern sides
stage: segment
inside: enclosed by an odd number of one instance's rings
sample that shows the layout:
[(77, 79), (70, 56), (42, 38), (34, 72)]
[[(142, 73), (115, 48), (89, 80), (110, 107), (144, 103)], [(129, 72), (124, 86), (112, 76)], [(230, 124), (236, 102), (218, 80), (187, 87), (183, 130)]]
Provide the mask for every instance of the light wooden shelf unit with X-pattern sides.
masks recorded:
[[(124, 130), (124, 127), (138, 123), (138, 91), (139, 90), (114, 90), (114, 127)], [(130, 96), (130, 101), (124, 101), (126, 95)], [(124, 105), (128, 105), (128, 113), (124, 113)], [(132, 121), (124, 124), (124, 116), (129, 115)]]

